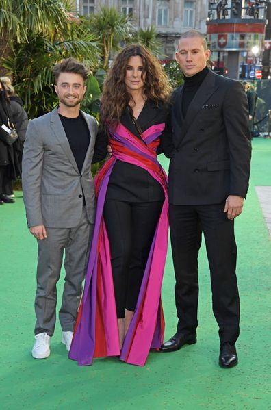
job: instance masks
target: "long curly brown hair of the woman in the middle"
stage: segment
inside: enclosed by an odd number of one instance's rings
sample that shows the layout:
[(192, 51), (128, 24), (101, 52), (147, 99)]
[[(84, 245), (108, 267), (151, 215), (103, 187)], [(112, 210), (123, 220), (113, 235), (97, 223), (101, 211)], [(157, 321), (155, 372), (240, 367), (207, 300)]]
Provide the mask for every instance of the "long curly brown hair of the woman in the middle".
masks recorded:
[(169, 100), (172, 88), (168, 84), (166, 73), (157, 58), (142, 45), (131, 44), (123, 49), (115, 58), (110, 68), (101, 98), (101, 115), (99, 129), (105, 131), (114, 129), (120, 122), (123, 110), (133, 101), (133, 97), (125, 86), (126, 68), (130, 57), (140, 56), (143, 62), (144, 97), (151, 99), (157, 105), (166, 104)]

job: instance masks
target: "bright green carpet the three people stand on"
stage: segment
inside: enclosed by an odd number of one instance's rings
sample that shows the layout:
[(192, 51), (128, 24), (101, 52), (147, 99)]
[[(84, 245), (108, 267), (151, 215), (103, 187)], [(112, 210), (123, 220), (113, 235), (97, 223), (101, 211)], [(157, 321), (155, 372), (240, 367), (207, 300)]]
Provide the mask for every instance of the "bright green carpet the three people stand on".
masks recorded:
[[(198, 343), (170, 354), (151, 353), (144, 368), (115, 358), (79, 367), (67, 359), (57, 322), (51, 356), (31, 357), (34, 342), (36, 242), (29, 235), (20, 192), (0, 207), (1, 396), (8, 409), (270, 409), (271, 246), (254, 186), (271, 185), (271, 140), (253, 141), (253, 170), (244, 213), (236, 220), (237, 277), (241, 297), (240, 363), (218, 366), (218, 329), (211, 311), (205, 249), (200, 256)], [(165, 169), (167, 160), (162, 160)], [(59, 283), (59, 298), (62, 294)], [(177, 324), (170, 252), (162, 298), (166, 335)]]

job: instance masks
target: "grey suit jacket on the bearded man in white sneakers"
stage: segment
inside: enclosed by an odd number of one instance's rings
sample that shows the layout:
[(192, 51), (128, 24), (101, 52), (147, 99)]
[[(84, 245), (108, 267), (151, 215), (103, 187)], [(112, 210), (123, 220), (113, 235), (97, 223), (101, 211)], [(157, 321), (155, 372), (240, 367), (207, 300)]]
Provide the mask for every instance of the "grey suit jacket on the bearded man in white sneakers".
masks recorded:
[(84, 112), (81, 114), (90, 130), (90, 144), (81, 174), (57, 108), (29, 122), (22, 174), (28, 227), (76, 227), (81, 218), (83, 194), (88, 220), (94, 222), (95, 196), (90, 166), (97, 125), (92, 116)]

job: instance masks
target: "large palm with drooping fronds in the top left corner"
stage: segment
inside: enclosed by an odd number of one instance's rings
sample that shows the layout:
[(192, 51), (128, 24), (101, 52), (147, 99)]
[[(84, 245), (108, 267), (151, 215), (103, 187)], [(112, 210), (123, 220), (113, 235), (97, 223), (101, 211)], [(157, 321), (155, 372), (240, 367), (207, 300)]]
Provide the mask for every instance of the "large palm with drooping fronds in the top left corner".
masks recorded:
[(99, 47), (90, 31), (68, 12), (60, 0), (0, 0), (2, 66), (14, 79), (16, 92), (30, 118), (55, 105), (53, 64), (65, 57), (98, 66)]

